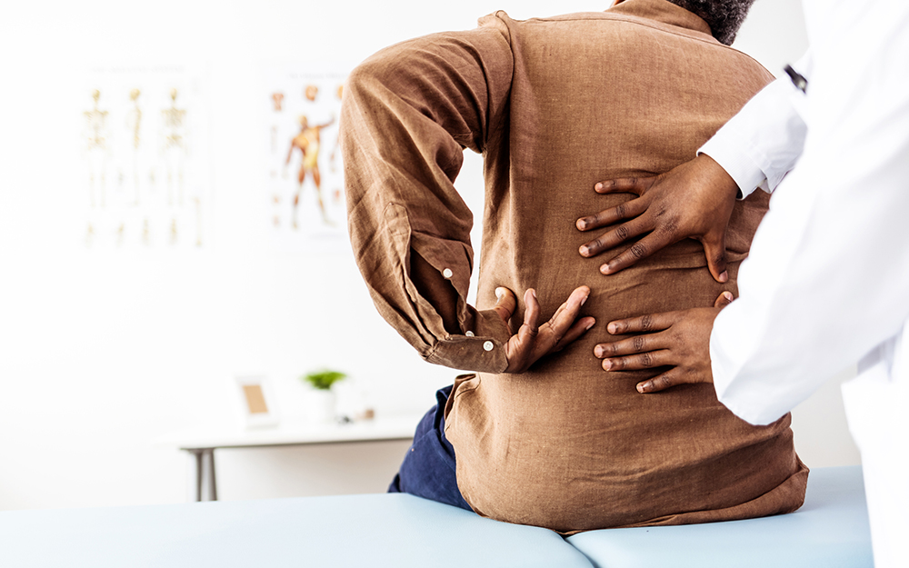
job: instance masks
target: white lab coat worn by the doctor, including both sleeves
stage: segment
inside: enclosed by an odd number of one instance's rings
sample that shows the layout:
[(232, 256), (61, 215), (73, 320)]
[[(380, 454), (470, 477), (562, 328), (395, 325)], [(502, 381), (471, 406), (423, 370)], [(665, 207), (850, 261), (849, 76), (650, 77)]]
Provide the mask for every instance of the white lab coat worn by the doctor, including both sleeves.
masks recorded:
[(714, 385), (735, 414), (768, 424), (860, 361), (844, 402), (875, 563), (905, 568), (909, 2), (804, 0), (804, 11), (812, 55), (794, 66), (807, 93), (774, 83), (702, 149), (745, 192), (778, 184), (740, 297), (714, 322)]

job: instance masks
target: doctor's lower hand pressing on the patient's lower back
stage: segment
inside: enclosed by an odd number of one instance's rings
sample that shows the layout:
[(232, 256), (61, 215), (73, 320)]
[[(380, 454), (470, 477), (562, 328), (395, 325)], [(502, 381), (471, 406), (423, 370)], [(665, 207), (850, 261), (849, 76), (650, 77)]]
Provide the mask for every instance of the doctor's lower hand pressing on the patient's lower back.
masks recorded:
[(712, 308), (693, 308), (610, 322), (606, 326), (610, 334), (645, 335), (613, 344), (597, 344), (594, 355), (603, 359), (605, 371), (672, 367), (663, 374), (638, 383), (639, 393), (658, 393), (677, 384), (713, 383), (710, 332), (716, 314), (732, 301), (733, 294), (724, 292)]

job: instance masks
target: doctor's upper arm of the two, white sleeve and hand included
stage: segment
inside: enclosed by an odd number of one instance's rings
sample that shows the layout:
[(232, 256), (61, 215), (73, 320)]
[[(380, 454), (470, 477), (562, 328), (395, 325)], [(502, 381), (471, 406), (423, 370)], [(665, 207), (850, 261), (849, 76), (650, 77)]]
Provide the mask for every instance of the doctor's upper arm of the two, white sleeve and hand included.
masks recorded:
[[(809, 61), (806, 55), (797, 65), (806, 69)], [(580, 254), (593, 257), (645, 234), (600, 267), (603, 274), (614, 274), (669, 244), (694, 238), (704, 245), (714, 279), (725, 282), (724, 236), (736, 196), (747, 196), (758, 185), (772, 191), (802, 153), (805, 126), (795, 93), (788, 78), (767, 85), (693, 161), (666, 174), (596, 184), (598, 194), (633, 193), (638, 198), (578, 219), (581, 231), (616, 224), (583, 244)]]

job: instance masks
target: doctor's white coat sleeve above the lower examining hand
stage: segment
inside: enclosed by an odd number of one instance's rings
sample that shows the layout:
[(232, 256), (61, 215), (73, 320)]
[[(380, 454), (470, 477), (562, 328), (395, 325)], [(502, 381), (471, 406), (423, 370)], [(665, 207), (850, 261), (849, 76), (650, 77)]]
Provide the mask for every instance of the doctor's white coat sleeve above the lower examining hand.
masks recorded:
[(848, 34), (826, 37), (824, 59), (815, 44), (804, 154), (710, 339), (716, 394), (752, 424), (792, 410), (909, 316), (909, 38), (894, 31), (856, 47)]

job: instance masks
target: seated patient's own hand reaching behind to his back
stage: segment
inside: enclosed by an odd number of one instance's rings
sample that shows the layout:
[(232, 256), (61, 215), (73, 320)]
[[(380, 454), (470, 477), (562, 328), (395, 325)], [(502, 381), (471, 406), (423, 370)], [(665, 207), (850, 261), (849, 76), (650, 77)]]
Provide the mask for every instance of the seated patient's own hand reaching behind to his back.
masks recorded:
[[(514, 292), (504, 287), (496, 288), (495, 295), (498, 297), (498, 301), (495, 303), (494, 310), (507, 325), (517, 307), (517, 298), (514, 296)], [(570, 344), (593, 327), (595, 320), (592, 317), (582, 317), (580, 320), (574, 321), (589, 295), (590, 288), (587, 286), (575, 288), (574, 292), (568, 296), (568, 301), (555, 311), (552, 319), (543, 325), (538, 325), (540, 303), (536, 300), (536, 291), (528, 288), (524, 292), (524, 305), (526, 306), (524, 324), (505, 344), (508, 367), (504, 372), (524, 373), (538, 359), (560, 351), (566, 344)]]

